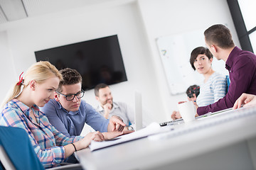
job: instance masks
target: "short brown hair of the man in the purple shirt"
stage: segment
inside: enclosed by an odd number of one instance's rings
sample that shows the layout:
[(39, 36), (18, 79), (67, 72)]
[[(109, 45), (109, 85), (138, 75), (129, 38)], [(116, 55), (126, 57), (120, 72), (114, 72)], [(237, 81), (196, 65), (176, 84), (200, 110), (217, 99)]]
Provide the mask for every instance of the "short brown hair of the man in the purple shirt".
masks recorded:
[(222, 24), (210, 26), (204, 35), (208, 45), (217, 45), (223, 49), (235, 47), (230, 30)]

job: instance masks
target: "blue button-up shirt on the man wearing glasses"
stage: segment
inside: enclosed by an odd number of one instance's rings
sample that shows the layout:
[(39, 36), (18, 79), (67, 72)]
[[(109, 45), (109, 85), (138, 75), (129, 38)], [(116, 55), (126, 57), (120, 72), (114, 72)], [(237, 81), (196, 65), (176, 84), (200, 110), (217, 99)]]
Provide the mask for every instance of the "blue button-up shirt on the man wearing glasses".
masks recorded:
[(68, 137), (80, 135), (85, 123), (94, 130), (107, 132), (107, 125), (110, 120), (105, 119), (100, 113), (97, 113), (90, 104), (81, 101), (78, 111), (66, 111), (59, 102), (50, 100), (43, 108), (40, 108), (46, 114), (50, 123), (55, 128)]

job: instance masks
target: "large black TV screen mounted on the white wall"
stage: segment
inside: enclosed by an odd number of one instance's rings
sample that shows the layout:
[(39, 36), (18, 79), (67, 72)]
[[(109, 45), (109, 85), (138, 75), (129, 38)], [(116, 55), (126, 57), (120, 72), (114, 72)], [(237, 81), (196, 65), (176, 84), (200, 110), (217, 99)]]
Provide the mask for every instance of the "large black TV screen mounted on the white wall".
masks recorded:
[(76, 69), (82, 75), (82, 89), (97, 84), (127, 81), (117, 35), (36, 51), (36, 61), (49, 61), (57, 69)]

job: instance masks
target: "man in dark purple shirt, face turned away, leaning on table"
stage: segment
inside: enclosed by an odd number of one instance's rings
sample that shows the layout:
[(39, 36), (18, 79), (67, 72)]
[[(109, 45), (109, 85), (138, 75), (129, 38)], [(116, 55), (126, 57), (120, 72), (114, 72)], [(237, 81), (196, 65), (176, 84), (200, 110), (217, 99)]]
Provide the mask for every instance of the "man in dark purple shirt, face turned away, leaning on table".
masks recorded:
[[(206, 45), (217, 60), (225, 61), (230, 77), (228, 94), (208, 106), (198, 107), (197, 114), (232, 108), (242, 93), (256, 94), (256, 55), (235, 46), (230, 30), (217, 24), (205, 32)], [(180, 115), (172, 115), (173, 119)]]

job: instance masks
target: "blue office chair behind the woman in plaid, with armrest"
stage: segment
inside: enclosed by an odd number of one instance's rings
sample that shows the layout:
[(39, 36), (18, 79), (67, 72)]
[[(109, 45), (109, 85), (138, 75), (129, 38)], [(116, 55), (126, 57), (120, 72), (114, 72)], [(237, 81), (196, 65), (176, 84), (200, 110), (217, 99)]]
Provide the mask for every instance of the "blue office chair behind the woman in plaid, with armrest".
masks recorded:
[[(0, 126), (0, 170), (43, 170), (27, 132), (21, 128)], [(82, 169), (80, 164), (57, 166), (57, 169)]]

